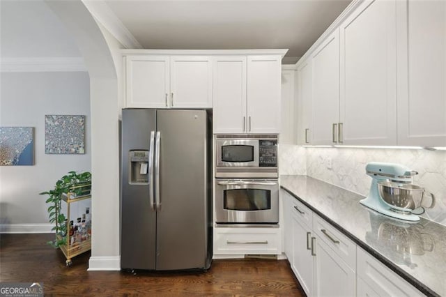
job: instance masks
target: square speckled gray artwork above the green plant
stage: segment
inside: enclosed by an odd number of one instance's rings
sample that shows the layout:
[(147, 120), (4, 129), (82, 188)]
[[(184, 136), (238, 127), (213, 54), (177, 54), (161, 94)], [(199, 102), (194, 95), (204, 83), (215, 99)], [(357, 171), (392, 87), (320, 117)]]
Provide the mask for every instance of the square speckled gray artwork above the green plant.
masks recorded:
[(45, 153), (85, 153), (85, 116), (46, 115)]

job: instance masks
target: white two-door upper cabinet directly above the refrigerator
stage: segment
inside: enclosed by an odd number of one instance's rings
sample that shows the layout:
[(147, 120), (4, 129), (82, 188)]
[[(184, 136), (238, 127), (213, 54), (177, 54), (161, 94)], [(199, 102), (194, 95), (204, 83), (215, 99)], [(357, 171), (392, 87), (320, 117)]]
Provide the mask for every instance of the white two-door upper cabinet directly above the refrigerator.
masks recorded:
[(209, 56), (128, 55), (126, 107), (212, 107)]

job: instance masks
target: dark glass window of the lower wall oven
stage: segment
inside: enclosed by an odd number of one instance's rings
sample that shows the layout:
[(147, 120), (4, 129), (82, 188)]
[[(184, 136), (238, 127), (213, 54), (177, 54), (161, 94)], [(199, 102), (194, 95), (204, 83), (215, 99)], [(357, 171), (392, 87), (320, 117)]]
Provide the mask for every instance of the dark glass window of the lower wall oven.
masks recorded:
[(260, 189), (224, 190), (224, 209), (231, 211), (264, 211), (271, 209), (271, 191)]

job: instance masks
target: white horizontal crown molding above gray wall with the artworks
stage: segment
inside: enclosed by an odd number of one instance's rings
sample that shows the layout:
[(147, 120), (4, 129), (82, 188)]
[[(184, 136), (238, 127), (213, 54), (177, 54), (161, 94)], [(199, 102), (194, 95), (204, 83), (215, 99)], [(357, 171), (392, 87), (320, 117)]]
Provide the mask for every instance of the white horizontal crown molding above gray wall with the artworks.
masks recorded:
[(77, 72), (88, 71), (80, 57), (1, 58), (2, 73)]

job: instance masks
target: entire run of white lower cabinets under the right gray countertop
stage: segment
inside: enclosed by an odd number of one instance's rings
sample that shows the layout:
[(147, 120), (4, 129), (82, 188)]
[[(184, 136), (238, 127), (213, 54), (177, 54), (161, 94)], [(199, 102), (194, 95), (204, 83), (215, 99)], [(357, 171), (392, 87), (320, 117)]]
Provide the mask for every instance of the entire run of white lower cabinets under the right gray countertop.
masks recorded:
[(284, 251), (307, 296), (424, 296), (298, 199), (280, 195)]

